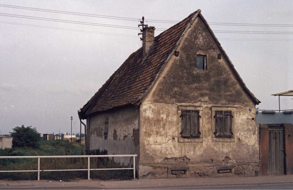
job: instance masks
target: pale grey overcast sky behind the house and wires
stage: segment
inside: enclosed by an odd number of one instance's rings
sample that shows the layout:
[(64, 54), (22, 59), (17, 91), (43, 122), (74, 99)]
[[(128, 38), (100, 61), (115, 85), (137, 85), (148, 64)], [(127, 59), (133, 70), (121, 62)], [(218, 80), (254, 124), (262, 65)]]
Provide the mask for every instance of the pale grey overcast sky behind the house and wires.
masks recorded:
[[(70, 132), (71, 116), (73, 132), (78, 132), (77, 110), (141, 46), (138, 28), (82, 25), (15, 15), (137, 27), (142, 16), (146, 20), (180, 21), (201, 9), (209, 23), (287, 25), (210, 25), (212, 30), (293, 32), (293, 1), (0, 0), (0, 4), (0, 13), (10, 14), (0, 14), (0, 134), (12, 132), (22, 124), (36, 127), (40, 133)], [(3, 5), (135, 19), (79, 16)], [(155, 35), (162, 32), (159, 28), (174, 25), (147, 24), (157, 28)], [(271, 94), (293, 89), (293, 34), (215, 35), (244, 83), (262, 102), (256, 107), (278, 109), (278, 98)], [(281, 97), (281, 109), (293, 109), (291, 98)]]

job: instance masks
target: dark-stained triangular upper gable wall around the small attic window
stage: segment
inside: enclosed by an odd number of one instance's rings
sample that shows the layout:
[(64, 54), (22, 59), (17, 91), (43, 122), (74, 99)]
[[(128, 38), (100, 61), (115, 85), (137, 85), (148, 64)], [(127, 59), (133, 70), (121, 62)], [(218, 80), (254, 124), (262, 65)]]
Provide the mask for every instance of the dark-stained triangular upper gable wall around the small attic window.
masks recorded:
[[(177, 51), (179, 56), (172, 56), (145, 103), (204, 101), (254, 107), (202, 19), (196, 18)], [(207, 71), (197, 71), (197, 54), (207, 55)]]

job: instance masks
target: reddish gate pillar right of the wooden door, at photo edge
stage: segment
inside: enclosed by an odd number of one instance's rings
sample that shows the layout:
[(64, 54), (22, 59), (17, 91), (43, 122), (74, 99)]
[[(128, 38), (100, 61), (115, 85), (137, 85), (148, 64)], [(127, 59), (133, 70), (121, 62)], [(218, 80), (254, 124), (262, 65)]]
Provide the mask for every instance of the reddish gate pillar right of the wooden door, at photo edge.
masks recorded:
[(285, 149), (285, 174), (293, 174), (293, 125), (290, 123), (282, 124), (284, 127), (284, 149)]

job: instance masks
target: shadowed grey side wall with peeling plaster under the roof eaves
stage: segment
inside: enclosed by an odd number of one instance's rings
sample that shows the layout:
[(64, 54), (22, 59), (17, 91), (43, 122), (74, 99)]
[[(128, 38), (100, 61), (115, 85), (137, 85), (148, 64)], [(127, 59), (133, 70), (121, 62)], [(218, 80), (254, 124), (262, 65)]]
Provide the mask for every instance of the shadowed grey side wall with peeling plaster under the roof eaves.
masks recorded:
[[(106, 119), (108, 135), (105, 139)], [(87, 135), (90, 136), (87, 141), (89, 149), (105, 149), (108, 155), (139, 154), (139, 108), (125, 106), (87, 118)], [(121, 165), (133, 162), (130, 157), (114, 157), (114, 160)]]

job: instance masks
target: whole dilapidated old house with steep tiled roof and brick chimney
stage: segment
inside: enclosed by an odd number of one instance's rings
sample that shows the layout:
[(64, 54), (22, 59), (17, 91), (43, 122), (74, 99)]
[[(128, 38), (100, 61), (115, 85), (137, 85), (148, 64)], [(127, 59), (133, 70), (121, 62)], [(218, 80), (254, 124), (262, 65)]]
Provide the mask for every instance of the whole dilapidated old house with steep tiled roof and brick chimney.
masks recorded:
[(154, 30), (79, 110), (87, 148), (137, 154), (140, 178), (258, 175), (260, 101), (201, 11)]

